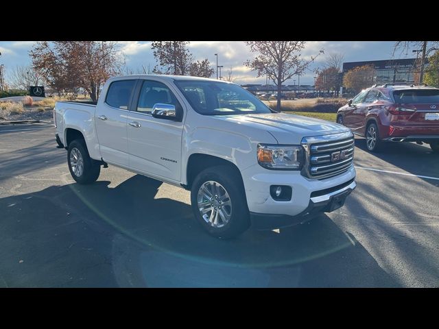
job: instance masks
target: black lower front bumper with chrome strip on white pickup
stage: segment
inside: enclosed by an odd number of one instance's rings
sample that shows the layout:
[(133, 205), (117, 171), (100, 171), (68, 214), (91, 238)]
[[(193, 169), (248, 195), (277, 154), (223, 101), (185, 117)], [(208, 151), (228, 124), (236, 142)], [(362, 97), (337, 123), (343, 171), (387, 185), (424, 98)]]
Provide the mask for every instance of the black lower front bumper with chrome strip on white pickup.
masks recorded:
[(331, 212), (342, 207), (346, 197), (351, 194), (355, 187), (357, 187), (357, 184), (355, 180), (352, 180), (350, 184), (336, 191), (311, 197), (307, 208), (295, 216), (250, 212), (252, 227), (256, 230), (273, 230), (274, 228), (285, 228), (304, 223), (322, 212)]

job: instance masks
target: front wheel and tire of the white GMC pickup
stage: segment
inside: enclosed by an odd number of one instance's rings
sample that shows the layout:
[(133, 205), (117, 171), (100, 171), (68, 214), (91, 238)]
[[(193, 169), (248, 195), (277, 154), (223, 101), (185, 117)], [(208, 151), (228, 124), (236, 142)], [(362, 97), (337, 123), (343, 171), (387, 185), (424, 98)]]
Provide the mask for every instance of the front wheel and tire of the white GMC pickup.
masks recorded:
[(212, 236), (232, 239), (250, 227), (241, 177), (228, 166), (201, 171), (191, 187), (193, 215)]

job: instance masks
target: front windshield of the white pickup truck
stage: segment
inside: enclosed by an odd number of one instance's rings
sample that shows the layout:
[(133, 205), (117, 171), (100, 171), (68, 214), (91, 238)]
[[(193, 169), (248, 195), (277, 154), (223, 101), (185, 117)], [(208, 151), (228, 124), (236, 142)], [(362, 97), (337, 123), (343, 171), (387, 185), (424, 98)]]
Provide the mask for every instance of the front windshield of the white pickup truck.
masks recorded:
[(268, 106), (236, 84), (212, 81), (175, 81), (192, 108), (204, 115), (271, 113)]

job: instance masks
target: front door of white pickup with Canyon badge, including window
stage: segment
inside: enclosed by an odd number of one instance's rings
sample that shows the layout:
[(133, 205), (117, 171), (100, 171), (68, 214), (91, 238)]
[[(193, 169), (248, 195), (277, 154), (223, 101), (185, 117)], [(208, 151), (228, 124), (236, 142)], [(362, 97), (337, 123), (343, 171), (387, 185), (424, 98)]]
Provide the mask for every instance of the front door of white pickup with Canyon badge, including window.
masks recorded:
[(137, 171), (180, 181), (183, 123), (152, 117), (156, 103), (182, 110), (172, 87), (154, 80), (141, 81), (139, 98), (128, 114), (129, 166)]

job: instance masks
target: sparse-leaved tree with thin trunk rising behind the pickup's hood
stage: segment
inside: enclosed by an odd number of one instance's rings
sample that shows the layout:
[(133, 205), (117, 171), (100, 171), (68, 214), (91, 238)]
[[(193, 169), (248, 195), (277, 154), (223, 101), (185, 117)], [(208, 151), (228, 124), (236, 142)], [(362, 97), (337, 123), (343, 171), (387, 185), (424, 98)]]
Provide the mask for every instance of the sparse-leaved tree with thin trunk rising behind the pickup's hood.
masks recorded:
[(244, 62), (258, 77), (268, 74), (277, 86), (277, 106), (281, 110), (282, 84), (293, 75), (302, 74), (323, 50), (316, 56), (305, 60), (300, 52), (305, 48), (305, 41), (246, 41), (252, 53), (257, 53), (253, 60)]

